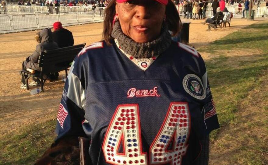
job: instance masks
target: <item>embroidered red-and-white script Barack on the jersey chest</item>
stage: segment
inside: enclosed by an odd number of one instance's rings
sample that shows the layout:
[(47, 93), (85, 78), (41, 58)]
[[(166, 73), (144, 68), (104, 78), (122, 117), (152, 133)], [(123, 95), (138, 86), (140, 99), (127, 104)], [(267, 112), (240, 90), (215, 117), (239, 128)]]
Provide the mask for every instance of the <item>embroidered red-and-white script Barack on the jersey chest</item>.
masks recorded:
[(160, 97), (157, 91), (157, 86), (155, 86), (152, 90), (137, 90), (136, 88), (131, 88), (127, 95), (128, 97)]

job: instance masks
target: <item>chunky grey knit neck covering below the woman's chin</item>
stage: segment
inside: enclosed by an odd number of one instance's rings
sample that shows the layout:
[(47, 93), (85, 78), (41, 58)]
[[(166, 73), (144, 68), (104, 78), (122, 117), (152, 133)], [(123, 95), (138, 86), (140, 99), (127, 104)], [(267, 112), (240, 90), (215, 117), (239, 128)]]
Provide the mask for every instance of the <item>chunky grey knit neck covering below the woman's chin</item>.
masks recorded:
[(112, 31), (112, 37), (116, 38), (120, 48), (125, 53), (135, 58), (150, 58), (163, 53), (171, 44), (171, 34), (168, 32), (168, 26), (164, 25), (159, 38), (147, 43), (137, 43), (126, 36), (117, 21)]

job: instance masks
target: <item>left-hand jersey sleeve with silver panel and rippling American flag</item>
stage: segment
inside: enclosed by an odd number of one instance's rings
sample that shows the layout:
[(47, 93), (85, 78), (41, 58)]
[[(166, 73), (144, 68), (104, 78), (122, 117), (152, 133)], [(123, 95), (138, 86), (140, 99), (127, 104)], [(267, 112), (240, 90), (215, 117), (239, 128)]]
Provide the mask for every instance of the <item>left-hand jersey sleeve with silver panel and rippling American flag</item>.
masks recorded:
[(85, 115), (85, 89), (81, 81), (82, 68), (76, 58), (65, 81), (57, 115), (56, 140), (64, 136), (84, 136), (82, 122)]

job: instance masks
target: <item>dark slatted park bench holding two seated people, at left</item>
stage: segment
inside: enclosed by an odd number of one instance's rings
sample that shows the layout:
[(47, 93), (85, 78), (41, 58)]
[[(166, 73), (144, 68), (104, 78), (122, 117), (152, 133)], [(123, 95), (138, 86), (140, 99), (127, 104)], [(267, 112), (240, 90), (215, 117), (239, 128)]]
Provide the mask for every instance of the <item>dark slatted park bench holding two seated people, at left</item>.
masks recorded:
[(38, 58), (38, 67), (41, 71), (36, 71), (34, 74), (26, 70), (20, 71), (20, 75), (28, 76), (25, 79), (26, 89), (29, 90), (29, 78), (36, 78), (41, 85), (41, 91), (44, 91), (44, 83), (50, 73), (60, 72), (65, 70), (67, 77), (68, 68), (70, 63), (74, 60), (76, 55), (85, 47), (86, 43), (63, 47), (58, 49), (46, 50), (41, 52)]

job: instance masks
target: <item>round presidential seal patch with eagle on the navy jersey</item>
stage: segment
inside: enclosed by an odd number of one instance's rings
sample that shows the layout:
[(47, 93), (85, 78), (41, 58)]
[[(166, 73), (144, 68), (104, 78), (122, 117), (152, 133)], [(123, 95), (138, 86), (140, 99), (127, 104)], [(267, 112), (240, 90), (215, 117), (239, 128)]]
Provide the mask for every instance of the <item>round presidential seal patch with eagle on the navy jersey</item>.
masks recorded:
[(192, 97), (203, 100), (206, 97), (206, 91), (201, 79), (194, 74), (185, 75), (182, 81), (184, 90)]

